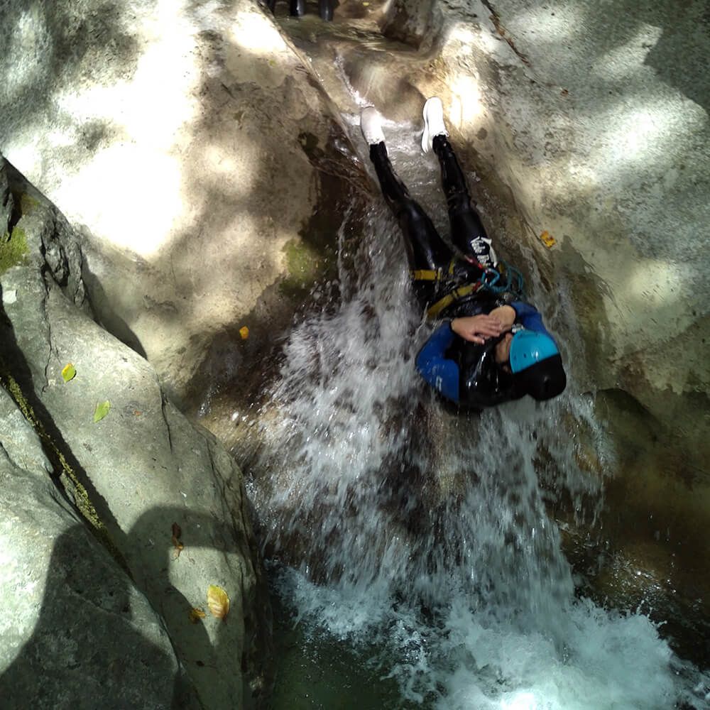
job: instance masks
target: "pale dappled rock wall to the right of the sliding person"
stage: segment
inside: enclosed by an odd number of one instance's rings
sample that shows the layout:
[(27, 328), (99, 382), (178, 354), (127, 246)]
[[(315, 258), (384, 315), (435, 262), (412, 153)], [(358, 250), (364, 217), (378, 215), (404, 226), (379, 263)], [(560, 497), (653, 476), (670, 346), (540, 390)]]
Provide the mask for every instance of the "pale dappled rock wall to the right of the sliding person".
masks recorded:
[[(484, 224), (555, 313), (571, 388), (591, 398), (611, 444), (605, 464), (589, 466), (606, 479), (606, 506), (566, 537), (570, 558), (602, 603), (645, 600), (652, 618), (672, 620), (676, 648), (706, 665), (704, 4), (680, 14), (635, 3), (355, 6), (327, 28), (279, 21), (364, 165), (362, 106), (376, 105), (393, 131), (411, 126), (416, 141), (425, 98), (444, 99)], [(415, 196), (445, 224), (430, 195)], [(236, 429), (224, 410), (211, 425), (249, 461), (249, 415), (236, 410)]]

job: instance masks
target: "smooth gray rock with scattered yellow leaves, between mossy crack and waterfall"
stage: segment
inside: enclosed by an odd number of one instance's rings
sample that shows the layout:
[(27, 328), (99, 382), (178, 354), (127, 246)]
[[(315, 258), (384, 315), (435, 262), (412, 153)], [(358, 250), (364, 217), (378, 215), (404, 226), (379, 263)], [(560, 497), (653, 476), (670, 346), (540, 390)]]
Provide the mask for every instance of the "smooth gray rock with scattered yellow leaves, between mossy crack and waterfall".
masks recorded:
[[(268, 677), (268, 599), (241, 472), (168, 401), (148, 362), (89, 317), (71, 229), (6, 172), (31, 207), (15, 225), (26, 235), (28, 263), (0, 276), (4, 367), (86, 489), (107, 544), (163, 619), (202, 706), (258, 704)], [(68, 363), (77, 375), (65, 382)], [(106, 400), (109, 413), (94, 422)], [(59, 473), (82, 508), (81, 491)], [(179, 555), (173, 524), (182, 531)], [(226, 621), (207, 611), (213, 584), (231, 600)], [(206, 616), (193, 623), (193, 608)]]

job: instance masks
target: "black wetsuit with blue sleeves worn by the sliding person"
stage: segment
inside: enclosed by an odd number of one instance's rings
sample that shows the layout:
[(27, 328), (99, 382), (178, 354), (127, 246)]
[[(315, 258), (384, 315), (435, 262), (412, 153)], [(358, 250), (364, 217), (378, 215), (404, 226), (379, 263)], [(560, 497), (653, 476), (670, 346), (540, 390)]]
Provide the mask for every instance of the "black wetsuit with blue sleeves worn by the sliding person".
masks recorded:
[[(431, 219), (394, 172), (385, 144), (370, 146), (370, 159), (382, 193), (405, 236), (415, 295), (425, 309), (461, 286), (478, 283), (484, 268), (493, 268), (495, 261), (491, 240), (471, 205), (466, 178), (454, 149), (446, 136), (435, 136), (432, 147), (441, 166), (452, 243), (464, 256), (473, 258), (475, 264), (459, 257), (439, 236)], [(442, 278), (417, 278), (417, 273), (425, 272), (439, 272)], [(486, 290), (452, 300), (437, 312), (437, 317), (452, 319), (487, 314), (503, 303), (513, 306), (516, 324), (550, 335), (540, 313), (530, 304)], [(435, 330), (420, 350), (417, 370), (439, 393), (462, 406), (483, 408), (518, 399), (524, 392), (515, 385), (513, 376), (495, 361), (498, 340), (488, 339), (483, 345), (467, 342), (452, 332), (449, 320)]]

